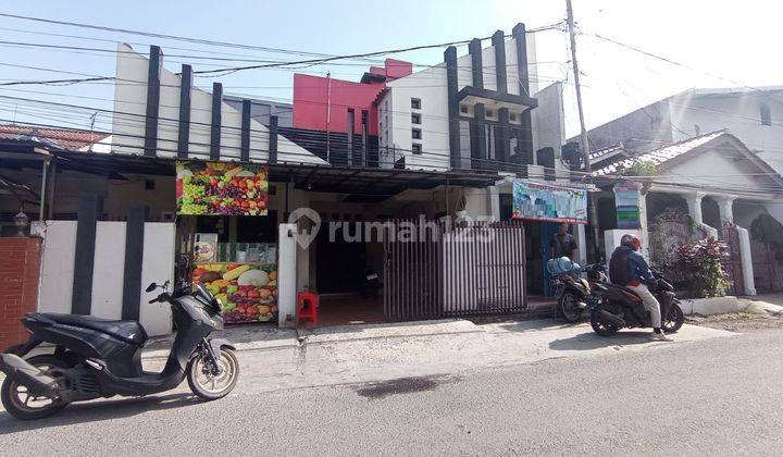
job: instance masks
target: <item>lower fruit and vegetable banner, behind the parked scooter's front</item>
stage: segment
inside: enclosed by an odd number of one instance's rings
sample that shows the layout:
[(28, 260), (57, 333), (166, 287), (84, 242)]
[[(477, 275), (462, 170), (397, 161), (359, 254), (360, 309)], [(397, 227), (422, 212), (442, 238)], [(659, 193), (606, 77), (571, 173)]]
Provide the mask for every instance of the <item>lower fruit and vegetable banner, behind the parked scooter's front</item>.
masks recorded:
[(277, 265), (274, 263), (202, 263), (192, 283), (203, 284), (221, 300), (226, 323), (277, 321)]

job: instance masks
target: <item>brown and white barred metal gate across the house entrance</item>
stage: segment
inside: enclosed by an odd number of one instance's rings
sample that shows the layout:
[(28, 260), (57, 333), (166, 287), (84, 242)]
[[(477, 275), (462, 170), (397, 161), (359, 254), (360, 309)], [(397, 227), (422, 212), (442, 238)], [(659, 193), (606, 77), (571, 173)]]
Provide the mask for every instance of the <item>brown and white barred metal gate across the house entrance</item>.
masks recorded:
[(388, 320), (526, 308), (521, 223), (390, 221), (385, 224), (384, 250)]

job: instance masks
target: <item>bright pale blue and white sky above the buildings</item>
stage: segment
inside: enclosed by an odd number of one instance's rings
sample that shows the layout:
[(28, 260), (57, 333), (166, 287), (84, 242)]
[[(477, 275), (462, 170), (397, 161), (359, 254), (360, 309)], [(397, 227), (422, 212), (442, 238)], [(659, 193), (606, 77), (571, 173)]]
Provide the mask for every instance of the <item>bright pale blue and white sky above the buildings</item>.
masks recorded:
[[(588, 128), (693, 87), (783, 85), (783, 59), (778, 57), (780, 52), (775, 47), (783, 7), (776, 2), (573, 0), (573, 8), (581, 32), (576, 49)], [(529, 29), (549, 25), (564, 18), (566, 1), (5, 0), (0, 2), (0, 12), (257, 47), (352, 54), (488, 37), (496, 29), (510, 33), (518, 22), (525, 23)], [(664, 57), (693, 70), (622, 48), (594, 34)], [(111, 52), (47, 50), (12, 42), (114, 50), (116, 41), (125, 41), (142, 53), (147, 53), (148, 46), (154, 44), (163, 49), (165, 66), (175, 72), (182, 63), (192, 63), (197, 71), (246, 64), (177, 55), (303, 59), (301, 55), (214, 47), (9, 17), (0, 17), (0, 83), (114, 75), (115, 57)], [(575, 135), (579, 133), (579, 118), (573, 75), (570, 73), (568, 35), (560, 30), (537, 33), (536, 46), (539, 88), (556, 81), (566, 83), (567, 135)], [(460, 47), (458, 52), (467, 53), (467, 47)], [(443, 61), (443, 49), (388, 57), (417, 64), (437, 64)], [(333, 77), (358, 81), (366, 66), (372, 64), (356, 60), (346, 63), (298, 71), (319, 75), (331, 72)], [(217, 78), (197, 77), (195, 83), (211, 88), (213, 82), (221, 82), (226, 95), (290, 101), (294, 72), (283, 69), (253, 70)], [(0, 87), (0, 123), (16, 120), (89, 127), (94, 111), (53, 108), (9, 97), (111, 110), (113, 86), (112, 83), (103, 82), (70, 86)], [(99, 113), (95, 119), (95, 128), (110, 129), (110, 114)]]

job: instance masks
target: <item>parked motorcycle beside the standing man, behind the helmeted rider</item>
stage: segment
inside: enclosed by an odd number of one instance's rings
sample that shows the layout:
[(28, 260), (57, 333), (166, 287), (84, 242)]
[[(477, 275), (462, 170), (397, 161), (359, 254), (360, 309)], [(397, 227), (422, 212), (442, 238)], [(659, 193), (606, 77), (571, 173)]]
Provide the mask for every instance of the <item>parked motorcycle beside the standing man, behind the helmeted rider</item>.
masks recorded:
[[(577, 322), (582, 318), (582, 313), (587, 308), (587, 296), (589, 295), (593, 284), (604, 281), (606, 276), (602, 273), (602, 264), (592, 263), (573, 272), (552, 273), (552, 284), (555, 285), (555, 298), (559, 314), (569, 322)], [(587, 280), (580, 277), (577, 274), (587, 273)]]

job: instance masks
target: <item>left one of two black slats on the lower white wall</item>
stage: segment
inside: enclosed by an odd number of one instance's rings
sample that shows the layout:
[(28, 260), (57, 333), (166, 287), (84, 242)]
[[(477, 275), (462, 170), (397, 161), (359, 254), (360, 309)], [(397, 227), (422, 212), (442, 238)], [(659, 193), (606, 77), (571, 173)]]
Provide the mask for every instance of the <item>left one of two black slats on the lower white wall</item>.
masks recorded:
[(101, 200), (96, 194), (82, 199), (76, 222), (76, 255), (71, 296), (71, 312), (74, 314), (89, 314), (92, 308), (96, 228), (101, 212)]

